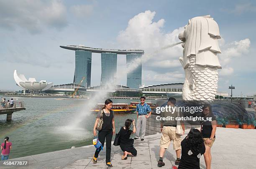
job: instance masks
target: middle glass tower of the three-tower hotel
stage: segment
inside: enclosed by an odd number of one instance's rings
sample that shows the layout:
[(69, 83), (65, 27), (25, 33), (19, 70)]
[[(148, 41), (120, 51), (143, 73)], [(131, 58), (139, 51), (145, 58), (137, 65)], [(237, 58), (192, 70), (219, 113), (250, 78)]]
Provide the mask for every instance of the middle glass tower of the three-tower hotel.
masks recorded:
[(108, 82), (116, 84), (116, 53), (101, 53), (101, 80), (100, 85), (105, 85)]

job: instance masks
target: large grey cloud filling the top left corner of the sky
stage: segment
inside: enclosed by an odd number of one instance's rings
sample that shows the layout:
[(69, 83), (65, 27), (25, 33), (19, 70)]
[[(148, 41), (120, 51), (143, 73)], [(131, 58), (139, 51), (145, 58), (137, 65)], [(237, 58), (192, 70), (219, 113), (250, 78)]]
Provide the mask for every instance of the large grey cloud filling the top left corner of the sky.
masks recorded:
[(45, 26), (58, 30), (67, 26), (66, 7), (60, 0), (0, 1), (0, 27), (7, 30), (27, 29), (39, 33)]

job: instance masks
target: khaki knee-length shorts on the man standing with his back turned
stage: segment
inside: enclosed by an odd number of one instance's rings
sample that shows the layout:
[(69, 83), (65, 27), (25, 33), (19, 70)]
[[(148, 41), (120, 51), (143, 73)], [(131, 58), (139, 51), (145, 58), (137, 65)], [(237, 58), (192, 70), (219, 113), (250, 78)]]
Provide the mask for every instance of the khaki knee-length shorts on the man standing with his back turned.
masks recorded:
[(164, 126), (160, 139), (160, 147), (168, 149), (171, 141), (173, 141), (174, 150), (181, 149), (181, 137), (179, 134), (176, 134), (176, 127)]

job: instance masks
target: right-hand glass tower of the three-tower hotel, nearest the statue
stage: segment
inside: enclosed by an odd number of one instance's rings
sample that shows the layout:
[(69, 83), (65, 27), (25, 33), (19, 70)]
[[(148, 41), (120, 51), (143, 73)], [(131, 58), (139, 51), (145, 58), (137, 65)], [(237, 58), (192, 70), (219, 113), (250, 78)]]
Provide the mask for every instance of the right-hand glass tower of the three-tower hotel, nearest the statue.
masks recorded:
[[(131, 53), (126, 55), (126, 65), (129, 68), (131, 65), (136, 64), (136, 59), (141, 59), (141, 53)], [(141, 86), (141, 76), (142, 76), (142, 63), (140, 61), (138, 67), (134, 70), (127, 72), (127, 86), (133, 89), (139, 89)]]

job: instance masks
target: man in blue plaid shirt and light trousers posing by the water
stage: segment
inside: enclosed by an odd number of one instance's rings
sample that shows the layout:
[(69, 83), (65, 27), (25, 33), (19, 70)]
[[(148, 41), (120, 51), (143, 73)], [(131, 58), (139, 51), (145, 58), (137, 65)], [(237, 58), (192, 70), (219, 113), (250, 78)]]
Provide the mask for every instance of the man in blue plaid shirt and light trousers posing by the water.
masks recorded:
[[(146, 132), (146, 122), (147, 118), (151, 115), (151, 108), (148, 104), (145, 103), (146, 98), (144, 96), (141, 97), (141, 103), (137, 105), (137, 124), (136, 124), (136, 135), (134, 139), (138, 139), (141, 129), (141, 141), (144, 140), (145, 132)], [(147, 113), (149, 114), (147, 115)]]

